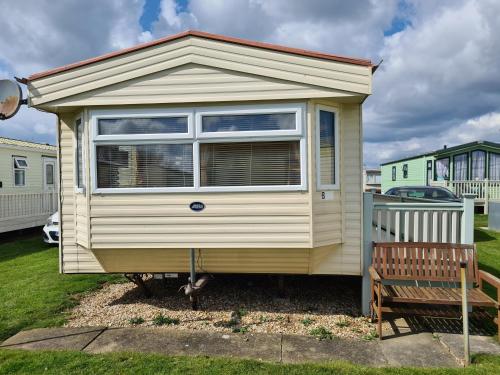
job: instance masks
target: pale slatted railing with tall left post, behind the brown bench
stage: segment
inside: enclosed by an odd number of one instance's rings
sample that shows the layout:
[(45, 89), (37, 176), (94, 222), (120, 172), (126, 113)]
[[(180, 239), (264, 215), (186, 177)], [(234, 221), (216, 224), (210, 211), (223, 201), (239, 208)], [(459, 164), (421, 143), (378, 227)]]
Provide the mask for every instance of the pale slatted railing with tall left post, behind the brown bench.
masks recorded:
[(363, 314), (368, 314), (373, 242), (474, 243), (474, 196), (437, 202), (379, 194), (363, 195)]

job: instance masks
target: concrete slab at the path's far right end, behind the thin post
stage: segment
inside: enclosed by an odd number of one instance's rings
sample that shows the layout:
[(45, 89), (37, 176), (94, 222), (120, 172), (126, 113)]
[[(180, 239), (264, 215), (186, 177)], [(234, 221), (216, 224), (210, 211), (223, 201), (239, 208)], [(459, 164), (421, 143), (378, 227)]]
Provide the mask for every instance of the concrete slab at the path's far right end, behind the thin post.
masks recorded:
[[(464, 359), (463, 335), (456, 333), (439, 333), (439, 341), (448, 349), (451, 355), (460, 363)], [(471, 354), (495, 354), (500, 355), (500, 344), (490, 336), (469, 336)]]

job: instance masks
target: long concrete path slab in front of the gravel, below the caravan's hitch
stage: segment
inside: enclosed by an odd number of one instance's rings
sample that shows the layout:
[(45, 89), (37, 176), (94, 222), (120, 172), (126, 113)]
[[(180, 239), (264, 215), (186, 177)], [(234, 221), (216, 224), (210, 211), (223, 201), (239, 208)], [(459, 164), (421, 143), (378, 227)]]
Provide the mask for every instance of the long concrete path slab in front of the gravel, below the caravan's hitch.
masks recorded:
[(208, 355), (279, 362), (281, 336), (190, 332), (176, 329), (116, 328), (106, 330), (85, 351), (90, 353), (139, 351), (165, 355)]

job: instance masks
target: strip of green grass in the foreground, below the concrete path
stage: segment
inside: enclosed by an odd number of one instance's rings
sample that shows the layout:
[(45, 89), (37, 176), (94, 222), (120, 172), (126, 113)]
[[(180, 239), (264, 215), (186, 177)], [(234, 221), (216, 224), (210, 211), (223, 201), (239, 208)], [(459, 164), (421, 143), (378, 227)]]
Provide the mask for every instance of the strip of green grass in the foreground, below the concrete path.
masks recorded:
[(467, 369), (370, 368), (346, 362), (283, 365), (251, 360), (157, 354), (0, 351), (1, 374), (498, 374), (499, 357), (477, 356)]

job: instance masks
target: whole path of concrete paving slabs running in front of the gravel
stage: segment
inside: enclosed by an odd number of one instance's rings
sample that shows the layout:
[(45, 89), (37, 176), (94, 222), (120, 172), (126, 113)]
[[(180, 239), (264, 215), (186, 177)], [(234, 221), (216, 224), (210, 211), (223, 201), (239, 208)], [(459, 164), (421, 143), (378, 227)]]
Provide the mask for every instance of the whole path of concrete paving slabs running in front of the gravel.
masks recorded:
[[(280, 334), (222, 334), (174, 328), (42, 328), (19, 332), (0, 347), (88, 353), (128, 351), (224, 356), (282, 363), (345, 360), (376, 367), (459, 366), (455, 358), (457, 354), (452, 353), (450, 347), (443, 345), (435, 335), (428, 332), (405, 334), (404, 327), (399, 331), (399, 335), (382, 341), (367, 342), (340, 338), (319, 341), (309, 336)], [(448, 337), (448, 341), (453, 342), (452, 338)], [(450, 345), (456, 348), (455, 344)], [(491, 348), (497, 348), (495, 345)]]

